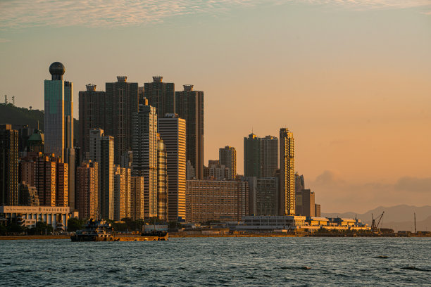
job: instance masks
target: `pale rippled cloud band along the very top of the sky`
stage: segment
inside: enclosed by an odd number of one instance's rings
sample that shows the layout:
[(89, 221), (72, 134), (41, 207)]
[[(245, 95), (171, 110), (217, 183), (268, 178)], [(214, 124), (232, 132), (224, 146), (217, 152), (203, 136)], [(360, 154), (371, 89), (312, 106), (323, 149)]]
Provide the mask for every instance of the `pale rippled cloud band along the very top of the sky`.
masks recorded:
[(430, 0), (3, 0), (0, 27), (119, 27), (161, 23), (177, 15), (215, 15), (242, 6), (260, 4), (335, 4), (354, 9), (424, 7)]

